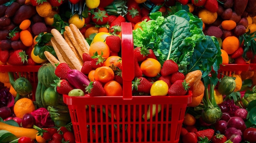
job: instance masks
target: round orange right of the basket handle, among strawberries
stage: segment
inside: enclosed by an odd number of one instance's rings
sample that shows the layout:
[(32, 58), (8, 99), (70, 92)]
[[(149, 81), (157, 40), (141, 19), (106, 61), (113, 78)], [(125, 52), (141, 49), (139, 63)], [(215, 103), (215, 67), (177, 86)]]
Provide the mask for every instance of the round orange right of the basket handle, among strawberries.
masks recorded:
[(140, 65), (142, 73), (148, 77), (157, 76), (161, 72), (161, 68), (159, 61), (154, 58), (147, 58)]

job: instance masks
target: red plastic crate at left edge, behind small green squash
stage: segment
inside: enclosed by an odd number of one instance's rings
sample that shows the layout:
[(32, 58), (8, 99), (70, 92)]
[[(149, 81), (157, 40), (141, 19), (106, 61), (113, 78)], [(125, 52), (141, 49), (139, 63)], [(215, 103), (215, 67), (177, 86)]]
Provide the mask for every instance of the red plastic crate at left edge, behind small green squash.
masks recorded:
[(0, 72), (12, 72), (14, 79), (27, 78), (32, 85), (31, 100), (35, 101), (36, 87), (38, 84), (37, 72), (41, 65), (0, 65)]

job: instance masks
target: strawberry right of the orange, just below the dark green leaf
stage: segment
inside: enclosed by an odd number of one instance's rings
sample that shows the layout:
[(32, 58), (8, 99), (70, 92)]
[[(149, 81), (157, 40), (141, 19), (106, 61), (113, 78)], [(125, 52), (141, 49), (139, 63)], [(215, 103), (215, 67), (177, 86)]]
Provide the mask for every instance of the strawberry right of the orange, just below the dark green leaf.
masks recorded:
[(179, 71), (179, 66), (173, 60), (166, 60), (161, 69), (162, 76), (168, 76)]

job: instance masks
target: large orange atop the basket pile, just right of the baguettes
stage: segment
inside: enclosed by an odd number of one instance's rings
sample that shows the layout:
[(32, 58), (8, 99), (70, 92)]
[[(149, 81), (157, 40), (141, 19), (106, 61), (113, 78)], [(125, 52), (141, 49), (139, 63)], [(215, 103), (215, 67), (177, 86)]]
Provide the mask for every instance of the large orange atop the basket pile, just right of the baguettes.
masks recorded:
[(98, 41), (90, 45), (89, 54), (90, 56), (93, 56), (94, 53), (98, 53), (98, 55), (101, 55), (101, 52), (103, 52), (102, 57), (108, 58), (110, 55), (110, 49), (108, 45), (102, 41)]

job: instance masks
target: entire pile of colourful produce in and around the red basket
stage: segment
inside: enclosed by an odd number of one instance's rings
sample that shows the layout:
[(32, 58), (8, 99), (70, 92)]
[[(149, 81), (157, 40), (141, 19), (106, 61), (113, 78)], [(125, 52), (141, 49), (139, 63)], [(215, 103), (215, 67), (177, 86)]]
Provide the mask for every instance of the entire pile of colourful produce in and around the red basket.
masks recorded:
[[(192, 93), (180, 142), (256, 143), (254, 0), (1, 0), (0, 9), (0, 69), (41, 65), (35, 101), (31, 79), (0, 72), (1, 143), (74, 143), (63, 95), (122, 96), (122, 22), (133, 29), (132, 96)], [(222, 64), (249, 68), (222, 75)], [(130, 117), (115, 115), (106, 117)], [(87, 128), (90, 141), (104, 138)]]

